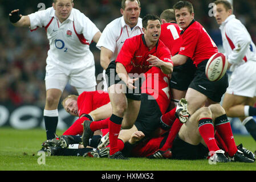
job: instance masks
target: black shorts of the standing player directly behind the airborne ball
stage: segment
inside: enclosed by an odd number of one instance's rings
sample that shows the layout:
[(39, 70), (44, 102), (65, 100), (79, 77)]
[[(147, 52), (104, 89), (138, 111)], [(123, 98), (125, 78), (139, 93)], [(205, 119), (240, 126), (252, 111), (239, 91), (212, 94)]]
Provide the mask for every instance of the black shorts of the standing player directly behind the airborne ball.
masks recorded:
[(202, 61), (197, 66), (196, 75), (189, 85), (198, 92), (204, 94), (214, 102), (220, 102), (221, 97), (229, 86), (227, 73), (219, 81), (209, 81), (205, 75), (205, 67), (208, 60)]

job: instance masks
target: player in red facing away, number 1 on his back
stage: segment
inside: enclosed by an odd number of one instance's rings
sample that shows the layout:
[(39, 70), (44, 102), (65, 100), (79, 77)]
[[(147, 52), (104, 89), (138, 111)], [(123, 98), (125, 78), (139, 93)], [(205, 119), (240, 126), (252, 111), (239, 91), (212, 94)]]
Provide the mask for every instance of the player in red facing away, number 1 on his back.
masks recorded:
[[(162, 24), (159, 39), (170, 49), (172, 56), (177, 55), (182, 44), (180, 36), (182, 29), (176, 23), (174, 10), (166, 9), (162, 11), (160, 18)], [(173, 68), (172, 78), (170, 79), (172, 98), (169, 109), (173, 109), (181, 98), (185, 97), (186, 90), (188, 90), (188, 86), (194, 77), (194, 72), (196, 72), (196, 67), (191, 59), (187, 60), (185, 64)]]

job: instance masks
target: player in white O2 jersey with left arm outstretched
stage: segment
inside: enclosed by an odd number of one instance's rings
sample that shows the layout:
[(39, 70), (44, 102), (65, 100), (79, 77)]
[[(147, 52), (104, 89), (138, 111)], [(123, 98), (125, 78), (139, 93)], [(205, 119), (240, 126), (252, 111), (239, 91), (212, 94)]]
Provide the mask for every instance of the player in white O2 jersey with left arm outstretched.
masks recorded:
[(54, 0), (52, 7), (22, 16), (19, 10), (9, 14), (17, 27), (31, 31), (44, 27), (50, 43), (46, 59), (46, 105), (44, 123), (47, 139), (55, 137), (58, 104), (68, 83), (78, 93), (94, 91), (96, 86), (94, 55), (90, 43), (98, 42), (101, 32), (86, 15), (73, 8), (73, 0)]

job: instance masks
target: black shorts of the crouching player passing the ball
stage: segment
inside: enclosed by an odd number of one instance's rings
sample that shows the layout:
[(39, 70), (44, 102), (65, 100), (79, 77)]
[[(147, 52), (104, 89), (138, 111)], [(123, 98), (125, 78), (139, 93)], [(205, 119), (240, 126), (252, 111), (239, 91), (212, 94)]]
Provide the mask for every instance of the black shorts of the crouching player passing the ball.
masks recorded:
[[(111, 61), (111, 63), (109, 63), (108, 68), (106, 69), (105, 72), (105, 76), (106, 76), (106, 81), (107, 81), (107, 85), (108, 87), (114, 84), (124, 84), (126, 86), (126, 84), (119, 78), (119, 76), (116, 73), (116, 63), (115, 61)], [(137, 88), (134, 90), (128, 89), (126, 90), (126, 97), (130, 98), (131, 100), (136, 100), (136, 101), (140, 101), (141, 98), (141, 85), (142, 82), (144, 81), (143, 78), (139, 78), (139, 80), (137, 80), (133, 85), (135, 85)]]

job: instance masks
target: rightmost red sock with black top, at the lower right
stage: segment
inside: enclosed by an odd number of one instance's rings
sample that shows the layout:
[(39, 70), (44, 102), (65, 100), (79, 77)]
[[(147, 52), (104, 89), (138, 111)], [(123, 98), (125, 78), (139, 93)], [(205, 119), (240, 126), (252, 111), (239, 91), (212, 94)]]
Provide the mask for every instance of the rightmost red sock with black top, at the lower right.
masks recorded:
[(237, 152), (237, 146), (226, 114), (215, 119), (215, 128), (227, 146), (227, 153), (232, 157)]

